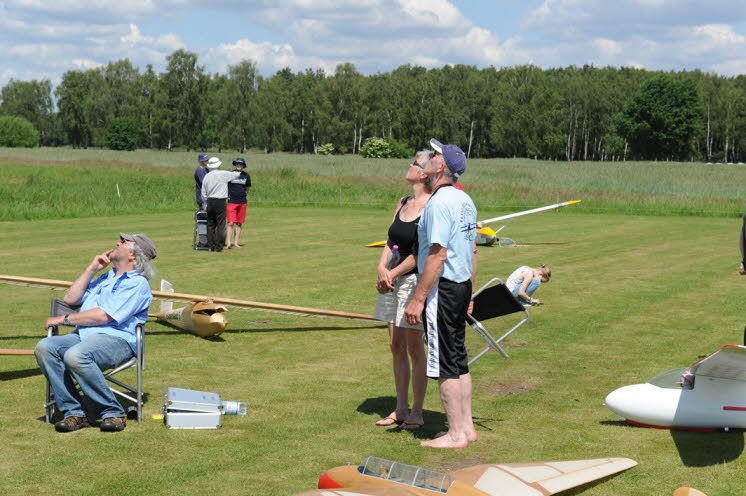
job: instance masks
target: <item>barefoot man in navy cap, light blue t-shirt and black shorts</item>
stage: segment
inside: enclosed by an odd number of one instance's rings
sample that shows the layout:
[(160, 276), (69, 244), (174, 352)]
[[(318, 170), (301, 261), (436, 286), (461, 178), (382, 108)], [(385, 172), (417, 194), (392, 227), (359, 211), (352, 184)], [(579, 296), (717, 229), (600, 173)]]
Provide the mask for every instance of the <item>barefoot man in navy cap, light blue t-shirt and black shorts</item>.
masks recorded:
[(438, 379), (448, 418), (448, 432), (420, 445), (464, 448), (477, 440), (464, 343), (476, 274), (477, 209), (469, 195), (453, 186), (466, 171), (464, 152), (435, 139), (430, 146), (435, 152), (423, 172), (433, 194), (417, 230), (421, 276), (405, 315), (411, 325), (425, 322), (427, 376)]

